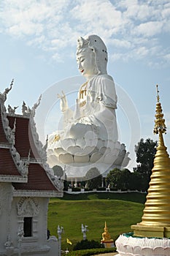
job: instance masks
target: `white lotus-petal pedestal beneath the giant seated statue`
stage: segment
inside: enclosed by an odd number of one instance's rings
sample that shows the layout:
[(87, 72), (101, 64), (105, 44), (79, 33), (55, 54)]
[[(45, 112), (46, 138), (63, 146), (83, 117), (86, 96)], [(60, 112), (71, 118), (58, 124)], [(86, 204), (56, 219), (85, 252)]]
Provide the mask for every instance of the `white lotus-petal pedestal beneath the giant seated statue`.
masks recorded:
[[(52, 138), (55, 135), (50, 135)], [(51, 140), (53, 141), (53, 139)], [(115, 167), (121, 169), (128, 165), (130, 158), (125, 145), (120, 142), (97, 140), (92, 146), (83, 146), (83, 139), (65, 139), (49, 144), (47, 162), (50, 167), (59, 165), (65, 169), (67, 180), (82, 181), (88, 170), (97, 168), (104, 177)], [(74, 145), (73, 145), (74, 144)]]

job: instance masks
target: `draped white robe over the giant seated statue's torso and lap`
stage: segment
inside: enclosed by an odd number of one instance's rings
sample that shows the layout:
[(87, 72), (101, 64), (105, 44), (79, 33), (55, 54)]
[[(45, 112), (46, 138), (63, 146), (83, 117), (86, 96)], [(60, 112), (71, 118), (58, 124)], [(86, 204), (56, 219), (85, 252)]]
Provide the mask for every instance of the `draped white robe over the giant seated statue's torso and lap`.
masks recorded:
[(88, 81), (85, 102), (76, 108), (70, 127), (72, 138), (83, 138), (88, 131), (94, 132), (101, 140), (117, 141), (117, 95), (115, 83), (109, 75), (97, 75)]

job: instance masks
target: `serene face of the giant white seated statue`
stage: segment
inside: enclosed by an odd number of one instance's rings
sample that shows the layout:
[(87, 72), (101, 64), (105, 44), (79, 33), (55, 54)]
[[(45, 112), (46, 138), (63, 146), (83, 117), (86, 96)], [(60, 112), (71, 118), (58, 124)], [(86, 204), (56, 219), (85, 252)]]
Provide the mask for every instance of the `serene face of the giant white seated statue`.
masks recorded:
[(77, 54), (78, 69), (85, 78), (98, 74), (96, 68), (95, 54), (90, 48), (86, 48)]

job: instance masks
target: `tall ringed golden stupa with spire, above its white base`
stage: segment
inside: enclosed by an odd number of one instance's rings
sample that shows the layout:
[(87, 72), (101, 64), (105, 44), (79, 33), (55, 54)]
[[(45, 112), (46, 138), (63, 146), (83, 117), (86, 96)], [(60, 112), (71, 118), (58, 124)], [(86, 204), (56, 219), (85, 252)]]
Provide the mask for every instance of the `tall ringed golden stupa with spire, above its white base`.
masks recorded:
[(157, 86), (157, 103), (153, 132), (159, 135), (154, 167), (144, 205), (142, 222), (132, 225), (134, 236), (170, 238), (170, 159), (163, 142), (166, 133), (159, 91)]

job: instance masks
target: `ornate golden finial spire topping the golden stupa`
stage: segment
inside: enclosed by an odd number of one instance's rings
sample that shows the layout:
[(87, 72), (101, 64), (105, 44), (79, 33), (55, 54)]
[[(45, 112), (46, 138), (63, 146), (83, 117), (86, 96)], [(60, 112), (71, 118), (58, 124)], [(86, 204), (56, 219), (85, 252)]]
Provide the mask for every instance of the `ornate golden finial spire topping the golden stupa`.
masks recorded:
[(165, 125), (165, 119), (163, 118), (158, 85), (156, 85), (156, 91), (157, 91), (157, 103), (156, 103), (156, 113), (155, 113), (155, 127), (153, 129), (153, 133), (162, 134), (162, 133), (166, 133), (166, 125)]

